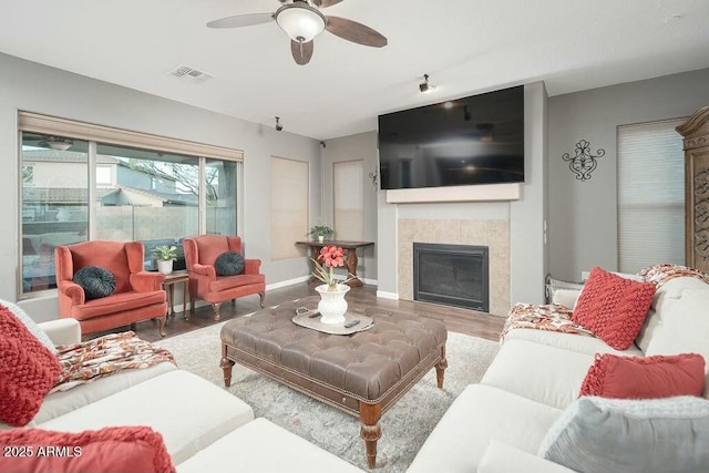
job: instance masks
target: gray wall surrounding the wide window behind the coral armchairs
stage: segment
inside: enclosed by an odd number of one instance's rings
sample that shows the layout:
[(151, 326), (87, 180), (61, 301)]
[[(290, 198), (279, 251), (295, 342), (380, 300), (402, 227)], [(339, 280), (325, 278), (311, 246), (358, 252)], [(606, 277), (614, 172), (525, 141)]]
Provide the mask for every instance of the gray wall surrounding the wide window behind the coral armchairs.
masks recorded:
[[(270, 156), (309, 162), (310, 182), (319, 183), (321, 157), (316, 140), (6, 54), (0, 54), (0, 198), (4, 222), (0, 233), (0, 298), (14, 301), (18, 287), (18, 110), (243, 150), (244, 213), (239, 230), (246, 256), (263, 260), (267, 285), (307, 275), (307, 258), (270, 261)], [(310, 207), (320, 206), (320, 186), (314, 185)], [(55, 296), (20, 304), (38, 321), (56, 318)]]

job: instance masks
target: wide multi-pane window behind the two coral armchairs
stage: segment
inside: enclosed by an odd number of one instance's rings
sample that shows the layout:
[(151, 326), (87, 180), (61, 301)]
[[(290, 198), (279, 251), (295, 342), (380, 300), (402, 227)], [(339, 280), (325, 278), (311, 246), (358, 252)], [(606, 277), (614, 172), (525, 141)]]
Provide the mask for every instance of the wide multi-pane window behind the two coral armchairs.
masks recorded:
[[(61, 132), (61, 133), (59, 133)], [(238, 233), (240, 152), (20, 113), (21, 295), (56, 287), (54, 248), (89, 239)]]

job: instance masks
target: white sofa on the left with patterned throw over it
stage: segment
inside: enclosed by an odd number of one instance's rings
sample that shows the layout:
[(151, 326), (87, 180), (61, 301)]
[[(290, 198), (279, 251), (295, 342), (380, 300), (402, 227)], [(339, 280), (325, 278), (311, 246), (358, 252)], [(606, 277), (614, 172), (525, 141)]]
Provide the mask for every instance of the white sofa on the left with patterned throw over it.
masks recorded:
[[(39, 326), (54, 345), (81, 340), (73, 319)], [(27, 426), (81, 432), (114, 425), (160, 432), (178, 472), (361, 473), (266, 419), (254, 419), (245, 402), (169, 362), (51, 393)]]

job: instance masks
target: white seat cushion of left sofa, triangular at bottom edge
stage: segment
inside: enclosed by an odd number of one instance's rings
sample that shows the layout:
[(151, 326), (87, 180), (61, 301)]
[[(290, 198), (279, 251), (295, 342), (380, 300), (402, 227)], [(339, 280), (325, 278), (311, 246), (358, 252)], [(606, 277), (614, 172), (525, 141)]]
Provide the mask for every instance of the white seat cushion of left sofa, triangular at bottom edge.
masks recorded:
[(238, 428), (179, 464), (179, 473), (230, 471), (363, 473), (264, 418)]

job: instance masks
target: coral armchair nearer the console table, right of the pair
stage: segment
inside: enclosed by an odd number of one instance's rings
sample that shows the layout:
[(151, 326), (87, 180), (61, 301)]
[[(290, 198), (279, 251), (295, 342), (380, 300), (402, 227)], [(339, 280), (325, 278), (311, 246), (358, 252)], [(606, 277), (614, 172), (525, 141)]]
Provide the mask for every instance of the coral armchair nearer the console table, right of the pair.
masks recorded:
[(195, 299), (202, 299), (214, 308), (214, 319), (219, 320), (219, 305), (225, 300), (258, 294), (264, 307), (266, 277), (260, 274), (260, 259), (245, 259), (244, 271), (234, 276), (218, 276), (214, 263), (226, 251), (242, 253), (238, 236), (201, 235), (185, 238), (185, 261), (189, 274), (189, 299), (192, 309)]

